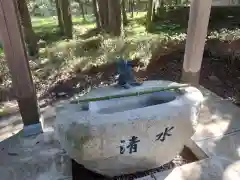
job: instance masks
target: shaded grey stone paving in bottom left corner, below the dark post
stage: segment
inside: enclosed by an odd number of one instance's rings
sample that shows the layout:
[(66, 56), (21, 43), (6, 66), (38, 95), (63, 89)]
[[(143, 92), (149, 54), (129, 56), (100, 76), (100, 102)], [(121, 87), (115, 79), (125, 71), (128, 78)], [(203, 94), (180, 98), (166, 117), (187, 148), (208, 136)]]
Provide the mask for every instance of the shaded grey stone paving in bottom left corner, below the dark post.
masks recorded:
[(0, 143), (1, 180), (71, 179), (71, 160), (54, 132), (23, 137), (22, 132)]

